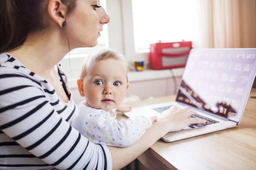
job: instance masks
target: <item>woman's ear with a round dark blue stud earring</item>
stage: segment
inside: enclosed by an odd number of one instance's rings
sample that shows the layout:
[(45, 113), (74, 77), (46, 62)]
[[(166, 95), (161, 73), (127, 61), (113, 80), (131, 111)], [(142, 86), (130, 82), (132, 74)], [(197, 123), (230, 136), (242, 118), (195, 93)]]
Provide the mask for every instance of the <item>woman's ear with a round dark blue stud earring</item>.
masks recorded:
[(48, 3), (48, 13), (50, 17), (62, 27), (67, 16), (67, 6), (61, 0), (50, 0)]

